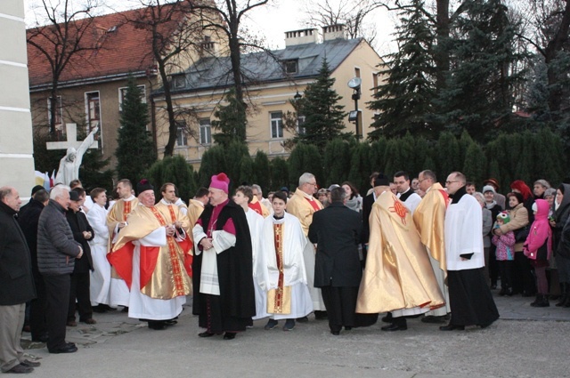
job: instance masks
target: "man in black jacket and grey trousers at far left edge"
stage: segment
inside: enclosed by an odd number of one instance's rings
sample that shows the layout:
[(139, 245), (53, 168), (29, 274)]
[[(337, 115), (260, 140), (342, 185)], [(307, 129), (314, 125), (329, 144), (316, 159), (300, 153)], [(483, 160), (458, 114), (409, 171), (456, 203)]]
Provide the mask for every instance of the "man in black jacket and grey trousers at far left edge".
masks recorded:
[(24, 359), (20, 333), (26, 302), (36, 297), (26, 238), (15, 219), (20, 210), (16, 189), (0, 188), (0, 370), (30, 373), (38, 362)]

